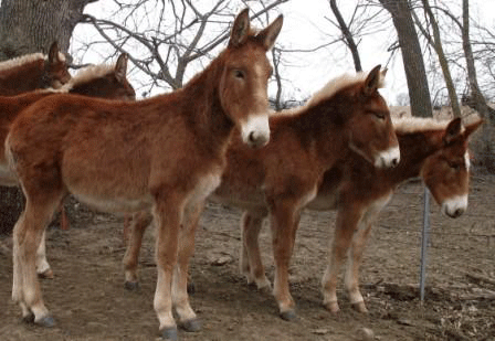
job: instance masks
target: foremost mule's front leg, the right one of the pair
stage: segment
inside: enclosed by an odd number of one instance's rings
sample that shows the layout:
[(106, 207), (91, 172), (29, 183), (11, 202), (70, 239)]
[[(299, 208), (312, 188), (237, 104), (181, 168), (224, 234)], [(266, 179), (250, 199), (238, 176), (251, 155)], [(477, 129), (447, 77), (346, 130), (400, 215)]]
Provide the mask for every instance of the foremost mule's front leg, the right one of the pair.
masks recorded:
[(179, 259), (173, 274), (172, 300), (179, 316), (179, 326), (186, 331), (198, 331), (201, 322), (189, 303), (188, 274), (189, 259), (194, 253), (194, 234), (204, 203), (191, 205), (185, 211), (179, 235)]

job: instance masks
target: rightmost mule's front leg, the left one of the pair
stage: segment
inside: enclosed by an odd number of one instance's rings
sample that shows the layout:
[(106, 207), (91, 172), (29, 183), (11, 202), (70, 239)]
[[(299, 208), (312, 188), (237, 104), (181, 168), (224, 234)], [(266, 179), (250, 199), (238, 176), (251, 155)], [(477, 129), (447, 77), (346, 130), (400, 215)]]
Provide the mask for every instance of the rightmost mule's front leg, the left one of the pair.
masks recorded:
[[(337, 301), (338, 273), (361, 216), (360, 210), (354, 206), (345, 207), (345, 210), (339, 209), (337, 213), (334, 242), (331, 244), (328, 265), (322, 279), (323, 303), (333, 313), (337, 313), (340, 310)], [(351, 303), (358, 303), (357, 301), (352, 301), (356, 298), (351, 297), (350, 299)]]

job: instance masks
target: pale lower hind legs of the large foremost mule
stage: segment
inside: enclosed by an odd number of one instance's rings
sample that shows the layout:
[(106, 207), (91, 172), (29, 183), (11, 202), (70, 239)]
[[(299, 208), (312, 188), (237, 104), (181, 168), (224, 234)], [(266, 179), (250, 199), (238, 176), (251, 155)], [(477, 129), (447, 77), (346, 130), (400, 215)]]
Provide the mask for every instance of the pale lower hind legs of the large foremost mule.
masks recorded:
[(14, 280), (12, 298), (18, 301), (24, 319), (34, 323), (52, 327), (53, 318), (43, 303), (40, 284), (36, 276), (36, 251), (41, 243), (43, 231), (50, 223), (62, 195), (27, 194), (24, 212), (13, 231), (14, 243)]

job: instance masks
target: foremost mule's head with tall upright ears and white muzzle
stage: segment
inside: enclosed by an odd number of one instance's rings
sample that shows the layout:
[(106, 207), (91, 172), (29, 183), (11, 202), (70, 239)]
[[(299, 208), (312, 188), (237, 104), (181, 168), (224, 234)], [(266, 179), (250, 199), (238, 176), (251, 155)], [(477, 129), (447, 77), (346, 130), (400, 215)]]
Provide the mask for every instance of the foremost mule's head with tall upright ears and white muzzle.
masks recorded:
[(244, 143), (251, 147), (270, 140), (267, 82), (272, 66), (266, 52), (274, 45), (282, 23), (280, 15), (264, 30), (254, 32), (245, 9), (235, 18), (229, 45), (222, 53), (220, 102)]

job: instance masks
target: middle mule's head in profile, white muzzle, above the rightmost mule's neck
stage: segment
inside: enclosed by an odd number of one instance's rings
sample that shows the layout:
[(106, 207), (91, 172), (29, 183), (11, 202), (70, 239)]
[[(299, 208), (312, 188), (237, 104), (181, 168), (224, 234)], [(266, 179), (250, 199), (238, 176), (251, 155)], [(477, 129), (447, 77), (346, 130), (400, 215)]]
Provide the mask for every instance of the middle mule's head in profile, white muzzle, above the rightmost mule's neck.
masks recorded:
[(399, 142), (390, 118), (390, 110), (378, 92), (387, 70), (376, 66), (365, 82), (347, 90), (351, 103), (343, 108), (351, 116), (349, 147), (377, 168), (396, 167), (400, 161)]

